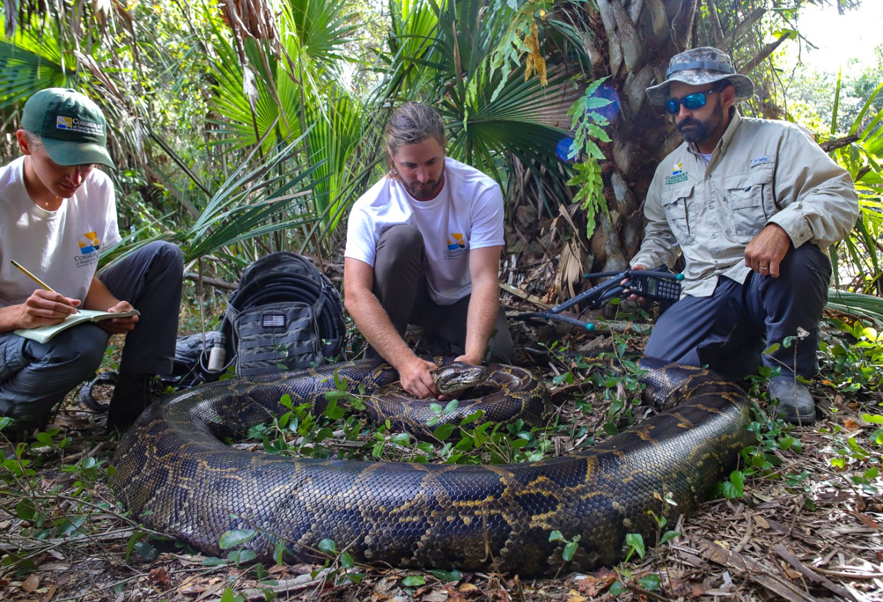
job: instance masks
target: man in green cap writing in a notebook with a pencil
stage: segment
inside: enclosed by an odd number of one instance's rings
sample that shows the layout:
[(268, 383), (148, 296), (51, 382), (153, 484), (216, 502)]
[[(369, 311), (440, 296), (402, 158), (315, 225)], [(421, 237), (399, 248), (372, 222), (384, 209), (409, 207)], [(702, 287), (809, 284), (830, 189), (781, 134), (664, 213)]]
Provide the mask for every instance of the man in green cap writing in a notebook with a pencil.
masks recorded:
[[(111, 334), (126, 336), (109, 428), (132, 423), (153, 400), (155, 375), (171, 371), (180, 249), (152, 242), (96, 274), (99, 255), (121, 240), (113, 182), (95, 169), (116, 169), (107, 128), (85, 95), (41, 90), (22, 111), (22, 156), (0, 168), (0, 415), (16, 418), (18, 431), (45, 424), (53, 406), (94, 374)], [(15, 333), (61, 323), (79, 309), (140, 315), (79, 324), (46, 342)]]

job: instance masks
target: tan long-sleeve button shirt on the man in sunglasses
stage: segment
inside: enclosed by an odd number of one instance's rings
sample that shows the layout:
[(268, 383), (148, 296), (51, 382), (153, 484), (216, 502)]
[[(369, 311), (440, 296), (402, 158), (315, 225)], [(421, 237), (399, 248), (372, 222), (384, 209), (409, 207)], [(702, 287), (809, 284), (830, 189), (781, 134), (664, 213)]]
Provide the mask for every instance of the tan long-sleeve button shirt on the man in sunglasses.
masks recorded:
[(744, 282), (744, 251), (780, 225), (795, 248), (827, 251), (852, 229), (858, 196), (849, 172), (799, 126), (734, 111), (711, 160), (684, 142), (656, 169), (644, 206), (644, 242), (632, 265), (669, 267), (683, 253), (683, 293), (706, 297), (717, 279)]

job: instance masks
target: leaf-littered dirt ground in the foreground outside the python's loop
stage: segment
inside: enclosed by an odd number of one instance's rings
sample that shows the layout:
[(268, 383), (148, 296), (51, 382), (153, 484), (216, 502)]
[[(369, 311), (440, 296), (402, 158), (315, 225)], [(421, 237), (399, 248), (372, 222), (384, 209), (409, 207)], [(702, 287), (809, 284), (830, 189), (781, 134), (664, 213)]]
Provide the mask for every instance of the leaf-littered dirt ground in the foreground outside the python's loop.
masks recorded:
[[(539, 365), (551, 380), (553, 369)], [(8, 600), (856, 600), (883, 602), (883, 486), (879, 466), (883, 396), (842, 395), (819, 377), (820, 420), (789, 434), (800, 448), (776, 450), (779, 465), (750, 477), (741, 499), (717, 499), (674, 528), (680, 535), (617, 567), (522, 580), (512, 575), (281, 566), (268, 570), (208, 560), (172, 541), (142, 537), (107, 485), (116, 441), (101, 415), (72, 399), (56, 423), (69, 446), (35, 446), (34, 476), (0, 486), (0, 598)], [(554, 392), (568, 400), (567, 388)], [(565, 408), (570, 401), (565, 401)], [(763, 403), (763, 401), (762, 401)], [(602, 404), (595, 404), (603, 414)], [(567, 411), (567, 410), (563, 410)], [(583, 415), (580, 420), (600, 421)], [(877, 433), (877, 434), (875, 434)], [(92, 472), (70, 469), (98, 461)], [(91, 476), (90, 476), (91, 475)], [(870, 478), (869, 478), (870, 476)], [(41, 536), (19, 516), (21, 492), (65, 528)], [(78, 522), (72, 517), (87, 517)], [(84, 524), (85, 523), (85, 524)], [(156, 534), (159, 535), (159, 534)], [(261, 574), (263, 573), (263, 574)]]

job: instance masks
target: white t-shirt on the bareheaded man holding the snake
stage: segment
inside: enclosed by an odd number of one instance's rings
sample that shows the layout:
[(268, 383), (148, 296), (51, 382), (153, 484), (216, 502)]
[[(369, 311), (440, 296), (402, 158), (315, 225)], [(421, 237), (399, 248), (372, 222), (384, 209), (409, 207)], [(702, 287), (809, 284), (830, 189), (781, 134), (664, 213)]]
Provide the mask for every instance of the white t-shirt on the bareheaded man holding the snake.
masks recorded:
[(502, 245), (500, 186), (481, 171), (445, 157), (444, 185), (431, 201), (417, 201), (395, 178), (384, 178), (350, 212), (343, 255), (374, 267), (377, 241), (392, 225), (423, 234), (430, 298), (450, 305), (472, 292), (471, 248)]

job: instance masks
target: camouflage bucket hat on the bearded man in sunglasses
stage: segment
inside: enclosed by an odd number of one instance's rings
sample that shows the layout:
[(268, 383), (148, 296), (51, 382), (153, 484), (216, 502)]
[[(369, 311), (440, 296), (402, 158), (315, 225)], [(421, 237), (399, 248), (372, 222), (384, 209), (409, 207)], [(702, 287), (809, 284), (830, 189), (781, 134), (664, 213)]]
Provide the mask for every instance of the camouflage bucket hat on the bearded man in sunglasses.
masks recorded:
[(736, 103), (754, 95), (754, 83), (743, 74), (736, 72), (733, 61), (726, 52), (710, 46), (702, 46), (672, 57), (668, 63), (666, 80), (647, 88), (647, 96), (651, 103), (663, 104), (670, 98), (668, 84), (672, 81), (702, 86), (721, 80), (729, 80), (733, 88), (736, 88)]

